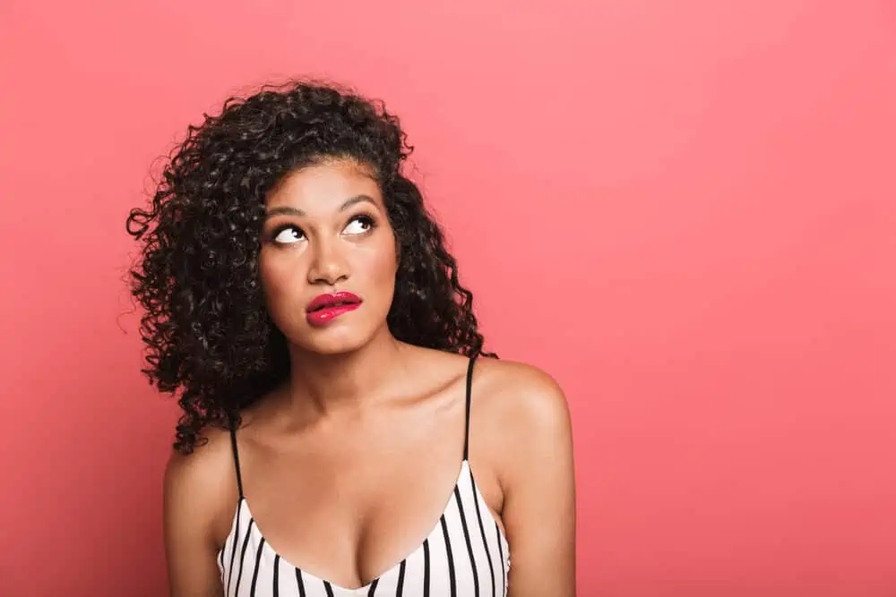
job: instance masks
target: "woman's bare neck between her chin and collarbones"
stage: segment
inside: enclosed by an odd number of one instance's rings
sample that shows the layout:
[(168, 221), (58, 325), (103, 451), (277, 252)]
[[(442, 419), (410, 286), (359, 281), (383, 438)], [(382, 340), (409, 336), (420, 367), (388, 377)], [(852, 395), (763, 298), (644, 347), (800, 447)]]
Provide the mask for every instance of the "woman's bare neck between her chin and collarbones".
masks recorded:
[(357, 412), (394, 383), (392, 371), (401, 366), (402, 352), (401, 342), (387, 328), (350, 353), (317, 354), (291, 347), (290, 410), (323, 417)]

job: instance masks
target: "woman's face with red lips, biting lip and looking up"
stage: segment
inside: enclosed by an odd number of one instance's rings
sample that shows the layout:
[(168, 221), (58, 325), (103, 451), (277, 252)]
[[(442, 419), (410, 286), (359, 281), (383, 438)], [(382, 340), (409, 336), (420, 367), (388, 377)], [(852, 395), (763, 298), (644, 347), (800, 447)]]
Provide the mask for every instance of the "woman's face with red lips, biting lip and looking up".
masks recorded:
[(383, 195), (364, 166), (307, 166), (269, 193), (262, 286), (271, 319), (298, 348), (347, 353), (388, 333), (397, 267)]

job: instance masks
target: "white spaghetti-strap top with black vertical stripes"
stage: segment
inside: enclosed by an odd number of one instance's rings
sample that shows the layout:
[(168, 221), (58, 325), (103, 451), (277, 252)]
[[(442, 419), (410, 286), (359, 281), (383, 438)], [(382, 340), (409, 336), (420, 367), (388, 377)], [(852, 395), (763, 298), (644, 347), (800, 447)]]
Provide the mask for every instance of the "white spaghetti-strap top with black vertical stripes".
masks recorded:
[(463, 461), (442, 516), (416, 550), (357, 589), (307, 573), (280, 558), (255, 524), (243, 495), (237, 436), (231, 431), (239, 503), (218, 557), (226, 597), (504, 597), (510, 571), (509, 545), (476, 487), (468, 459), (470, 386), (475, 356), (467, 370)]

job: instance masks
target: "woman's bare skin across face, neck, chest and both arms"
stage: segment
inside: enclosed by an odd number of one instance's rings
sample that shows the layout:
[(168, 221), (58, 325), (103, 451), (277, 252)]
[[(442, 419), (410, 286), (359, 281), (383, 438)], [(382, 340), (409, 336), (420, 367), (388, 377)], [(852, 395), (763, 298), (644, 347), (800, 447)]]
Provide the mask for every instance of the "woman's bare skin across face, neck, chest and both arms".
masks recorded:
[[(282, 558), (347, 588), (418, 548), (463, 453), (468, 361), (389, 332), (399, 255), (370, 174), (332, 160), (292, 173), (270, 193), (259, 264), (292, 370), (244, 413), (237, 432), (246, 499), (265, 538)], [(358, 294), (361, 307), (312, 327), (306, 304), (334, 290)], [(510, 544), (509, 594), (572, 597), (564, 394), (530, 365), (479, 358), (472, 397), (470, 468)], [(173, 597), (222, 591), (216, 558), (237, 508), (237, 480), (228, 432), (205, 434), (208, 443), (192, 455), (174, 452), (165, 474)]]

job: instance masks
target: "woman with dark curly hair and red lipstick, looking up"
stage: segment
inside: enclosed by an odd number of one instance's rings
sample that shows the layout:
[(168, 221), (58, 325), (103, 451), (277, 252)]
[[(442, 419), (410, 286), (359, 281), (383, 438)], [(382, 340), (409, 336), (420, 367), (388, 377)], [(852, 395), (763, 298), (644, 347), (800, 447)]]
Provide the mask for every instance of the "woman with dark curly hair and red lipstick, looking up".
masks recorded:
[(265, 88), (131, 212), (145, 371), (184, 411), (172, 595), (574, 594), (563, 394), (481, 352), (409, 152), (379, 104)]

